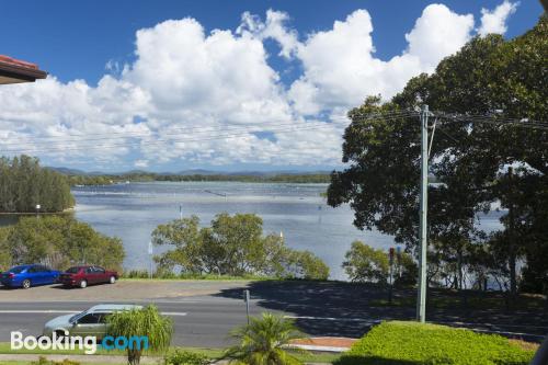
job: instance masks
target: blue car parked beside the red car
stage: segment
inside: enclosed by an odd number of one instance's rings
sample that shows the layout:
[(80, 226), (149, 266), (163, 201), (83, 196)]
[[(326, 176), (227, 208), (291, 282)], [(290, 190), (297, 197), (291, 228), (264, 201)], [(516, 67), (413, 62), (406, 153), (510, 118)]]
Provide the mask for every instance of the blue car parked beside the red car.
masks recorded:
[(34, 285), (47, 285), (57, 282), (60, 272), (45, 265), (20, 265), (13, 266), (2, 273), (0, 282), (9, 287), (22, 287), (24, 289)]

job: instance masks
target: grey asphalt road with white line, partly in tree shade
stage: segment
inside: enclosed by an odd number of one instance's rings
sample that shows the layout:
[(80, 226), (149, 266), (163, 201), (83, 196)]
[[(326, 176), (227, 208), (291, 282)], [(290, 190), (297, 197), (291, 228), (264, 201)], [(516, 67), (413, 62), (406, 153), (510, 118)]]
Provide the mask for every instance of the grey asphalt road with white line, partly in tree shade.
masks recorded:
[[(305, 283), (305, 282), (204, 282), (183, 285), (181, 295), (160, 298), (138, 298), (139, 283), (135, 287), (126, 285), (133, 293), (130, 300), (111, 299), (102, 288), (95, 286), (84, 290), (73, 290), (73, 299), (56, 301), (50, 293), (55, 288), (31, 288), (28, 290), (0, 290), (0, 342), (10, 340), (10, 331), (39, 334), (42, 326), (49, 319), (69, 312), (84, 310), (104, 303), (155, 303), (160, 311), (174, 321), (173, 344), (201, 347), (219, 347), (229, 343), (228, 333), (236, 326), (246, 323), (246, 305), (242, 290), (251, 290), (250, 312), (274, 311), (293, 318), (296, 324), (310, 335), (335, 335), (358, 338), (385, 319), (413, 319), (414, 309), (409, 307), (375, 307), (368, 303), (384, 297), (376, 288), (350, 283)], [(179, 286), (178, 286), (179, 287)], [(194, 287), (194, 289), (193, 289)], [(26, 299), (31, 290), (36, 290), (34, 300)], [(90, 290), (88, 290), (90, 289)], [(94, 290), (94, 292), (93, 292)], [(95, 293), (96, 292), (96, 293)], [(149, 290), (144, 290), (149, 296)], [(58, 293), (58, 292), (57, 292)], [(85, 293), (85, 295), (80, 295)], [(82, 300), (95, 293), (98, 300)], [(101, 294), (103, 293), (103, 294)], [(173, 294), (173, 288), (169, 287)], [(195, 295), (193, 295), (195, 293)], [(207, 294), (204, 294), (207, 293)], [(64, 296), (68, 294), (61, 293)], [(101, 296), (102, 295), (102, 296)], [(25, 297), (21, 300), (22, 296)], [(19, 299), (19, 300), (18, 300)], [(455, 327), (467, 327), (476, 331), (501, 333), (506, 337), (540, 341), (548, 333), (548, 321), (544, 313), (498, 313), (489, 311), (431, 310), (429, 320)]]

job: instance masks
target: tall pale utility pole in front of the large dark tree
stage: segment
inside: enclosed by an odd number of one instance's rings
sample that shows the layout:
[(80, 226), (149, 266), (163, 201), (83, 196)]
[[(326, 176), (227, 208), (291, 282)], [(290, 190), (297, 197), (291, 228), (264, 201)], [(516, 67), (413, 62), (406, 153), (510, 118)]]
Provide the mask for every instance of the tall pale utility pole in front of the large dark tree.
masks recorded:
[(419, 293), (416, 295), (416, 320), (426, 320), (426, 210), (429, 194), (429, 105), (421, 112), (421, 202), (419, 208)]

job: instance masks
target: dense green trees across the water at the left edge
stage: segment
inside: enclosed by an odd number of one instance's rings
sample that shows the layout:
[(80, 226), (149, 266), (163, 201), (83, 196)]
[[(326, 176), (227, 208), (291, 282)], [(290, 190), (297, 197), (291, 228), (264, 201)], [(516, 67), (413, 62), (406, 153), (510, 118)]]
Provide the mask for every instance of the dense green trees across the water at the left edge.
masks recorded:
[(39, 167), (38, 159), (25, 155), (0, 158), (1, 213), (57, 213), (75, 205), (70, 185), (62, 174)]

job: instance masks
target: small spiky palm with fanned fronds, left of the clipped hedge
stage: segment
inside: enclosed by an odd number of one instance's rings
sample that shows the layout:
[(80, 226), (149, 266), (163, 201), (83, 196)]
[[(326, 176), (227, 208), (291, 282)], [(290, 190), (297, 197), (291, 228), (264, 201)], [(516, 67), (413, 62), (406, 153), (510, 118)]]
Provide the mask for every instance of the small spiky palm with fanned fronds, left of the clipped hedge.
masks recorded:
[(301, 362), (289, 354), (285, 345), (301, 338), (292, 320), (273, 313), (251, 318), (249, 324), (237, 328), (231, 337), (238, 344), (228, 349), (225, 358), (247, 365), (297, 365)]

